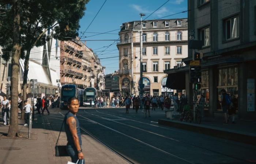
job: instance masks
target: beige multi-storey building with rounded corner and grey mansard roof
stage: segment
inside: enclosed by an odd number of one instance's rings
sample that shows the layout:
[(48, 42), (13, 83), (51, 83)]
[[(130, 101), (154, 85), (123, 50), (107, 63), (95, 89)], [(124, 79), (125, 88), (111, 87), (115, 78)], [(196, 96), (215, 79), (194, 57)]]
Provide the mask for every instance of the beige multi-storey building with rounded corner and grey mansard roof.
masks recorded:
[[(182, 59), (188, 56), (187, 28), (186, 18), (143, 21), (144, 94), (161, 95), (176, 92), (172, 88), (163, 88), (162, 81), (166, 81), (167, 78), (163, 71), (185, 66)], [(119, 70), (116, 74), (119, 75), (120, 92), (122, 95), (139, 95), (140, 21), (123, 23), (119, 36)]]

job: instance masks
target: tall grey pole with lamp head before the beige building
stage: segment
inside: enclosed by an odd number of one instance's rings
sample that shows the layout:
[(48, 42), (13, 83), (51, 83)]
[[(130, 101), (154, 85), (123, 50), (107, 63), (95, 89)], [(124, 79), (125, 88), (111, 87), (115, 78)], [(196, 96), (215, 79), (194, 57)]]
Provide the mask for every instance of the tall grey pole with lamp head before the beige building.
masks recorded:
[(143, 97), (143, 85), (142, 85), (142, 78), (143, 78), (143, 65), (142, 65), (142, 16), (145, 14), (140, 13), (140, 109), (142, 110), (142, 97)]

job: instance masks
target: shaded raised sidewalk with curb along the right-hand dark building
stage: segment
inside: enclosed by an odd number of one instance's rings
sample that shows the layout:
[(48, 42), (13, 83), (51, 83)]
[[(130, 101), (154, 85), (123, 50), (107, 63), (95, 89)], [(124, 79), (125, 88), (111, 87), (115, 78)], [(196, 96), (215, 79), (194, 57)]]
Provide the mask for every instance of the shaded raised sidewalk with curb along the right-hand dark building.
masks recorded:
[(174, 116), (174, 120), (159, 119), (158, 124), (256, 145), (256, 120), (239, 120), (236, 116), (235, 124), (223, 125), (222, 113), (216, 113), (214, 118), (206, 115), (201, 124), (179, 121), (179, 118), (180, 115)]

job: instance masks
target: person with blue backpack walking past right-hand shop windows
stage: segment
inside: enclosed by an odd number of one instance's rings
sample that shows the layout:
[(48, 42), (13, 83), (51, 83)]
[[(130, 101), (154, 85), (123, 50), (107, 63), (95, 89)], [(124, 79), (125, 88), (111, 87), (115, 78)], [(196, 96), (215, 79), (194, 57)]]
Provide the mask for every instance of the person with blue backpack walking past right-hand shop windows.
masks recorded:
[(225, 89), (222, 89), (221, 90), (221, 107), (222, 107), (222, 111), (223, 111), (223, 114), (224, 114), (224, 122), (223, 124), (224, 125), (227, 125), (228, 122), (227, 122), (227, 109), (229, 108), (229, 105), (230, 105), (230, 98), (229, 98), (229, 95), (226, 93), (226, 90)]

